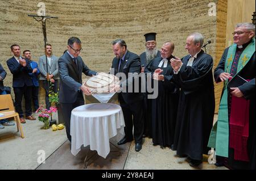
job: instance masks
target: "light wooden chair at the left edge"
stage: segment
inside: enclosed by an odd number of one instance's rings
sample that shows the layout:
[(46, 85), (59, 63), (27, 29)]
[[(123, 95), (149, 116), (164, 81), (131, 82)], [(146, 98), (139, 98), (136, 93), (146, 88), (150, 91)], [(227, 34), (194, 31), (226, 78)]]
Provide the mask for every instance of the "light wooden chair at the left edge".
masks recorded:
[(19, 114), (14, 111), (13, 99), (11, 99), (10, 94), (0, 95), (0, 119), (7, 119), (9, 117), (14, 117), (17, 124), (17, 131), (20, 131), (21, 137), (24, 138), (22, 131), (22, 125), (20, 124)]

